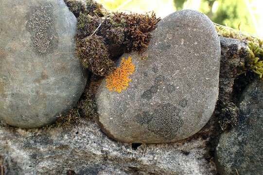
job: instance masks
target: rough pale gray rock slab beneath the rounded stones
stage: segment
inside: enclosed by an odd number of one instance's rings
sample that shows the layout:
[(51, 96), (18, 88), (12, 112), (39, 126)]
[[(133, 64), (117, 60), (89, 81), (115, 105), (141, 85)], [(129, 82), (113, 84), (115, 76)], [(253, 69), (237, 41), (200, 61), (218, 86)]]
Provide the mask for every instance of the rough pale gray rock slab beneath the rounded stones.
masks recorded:
[(211, 126), (191, 140), (131, 145), (109, 139), (90, 119), (48, 130), (0, 123), (0, 167), (5, 175), (216, 175)]

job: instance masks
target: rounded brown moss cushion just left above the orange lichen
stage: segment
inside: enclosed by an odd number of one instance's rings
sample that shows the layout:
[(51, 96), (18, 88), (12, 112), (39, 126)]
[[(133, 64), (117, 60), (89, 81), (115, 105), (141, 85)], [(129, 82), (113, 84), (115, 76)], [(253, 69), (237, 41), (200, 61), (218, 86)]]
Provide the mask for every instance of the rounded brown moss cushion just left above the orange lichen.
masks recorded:
[(87, 36), (77, 42), (77, 55), (84, 68), (100, 76), (109, 75), (115, 63), (109, 59), (108, 49), (103, 38), (97, 35)]

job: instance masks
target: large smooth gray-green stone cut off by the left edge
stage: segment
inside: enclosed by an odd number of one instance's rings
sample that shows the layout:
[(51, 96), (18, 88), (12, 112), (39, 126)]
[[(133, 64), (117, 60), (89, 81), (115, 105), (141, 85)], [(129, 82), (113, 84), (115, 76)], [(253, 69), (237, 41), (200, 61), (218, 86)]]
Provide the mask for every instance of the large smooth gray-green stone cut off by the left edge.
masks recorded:
[(87, 81), (74, 53), (77, 19), (63, 0), (0, 0), (0, 119), (53, 123)]

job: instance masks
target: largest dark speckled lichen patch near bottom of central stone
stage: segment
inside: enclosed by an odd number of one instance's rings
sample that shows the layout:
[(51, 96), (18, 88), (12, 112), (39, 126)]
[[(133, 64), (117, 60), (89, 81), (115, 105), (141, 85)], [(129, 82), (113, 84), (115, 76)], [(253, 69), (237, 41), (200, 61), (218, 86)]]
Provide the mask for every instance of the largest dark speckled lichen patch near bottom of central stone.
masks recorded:
[(148, 129), (167, 140), (175, 138), (176, 132), (183, 124), (179, 112), (179, 108), (169, 103), (158, 105), (148, 123)]

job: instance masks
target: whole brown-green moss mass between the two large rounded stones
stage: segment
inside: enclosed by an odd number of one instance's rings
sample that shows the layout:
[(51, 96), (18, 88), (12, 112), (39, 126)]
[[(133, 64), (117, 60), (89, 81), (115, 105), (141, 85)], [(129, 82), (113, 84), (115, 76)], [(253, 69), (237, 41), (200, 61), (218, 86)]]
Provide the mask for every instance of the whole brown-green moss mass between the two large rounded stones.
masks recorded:
[(84, 68), (100, 76), (115, 70), (114, 61), (123, 53), (146, 49), (160, 20), (155, 13), (110, 14), (94, 0), (86, 0), (85, 6), (78, 0), (65, 1), (78, 17), (77, 55)]

